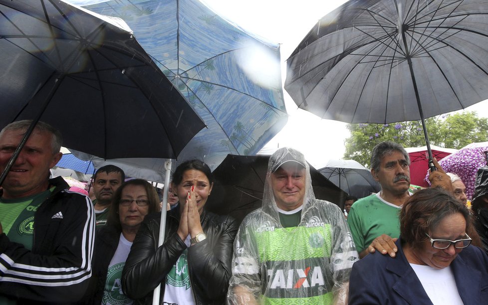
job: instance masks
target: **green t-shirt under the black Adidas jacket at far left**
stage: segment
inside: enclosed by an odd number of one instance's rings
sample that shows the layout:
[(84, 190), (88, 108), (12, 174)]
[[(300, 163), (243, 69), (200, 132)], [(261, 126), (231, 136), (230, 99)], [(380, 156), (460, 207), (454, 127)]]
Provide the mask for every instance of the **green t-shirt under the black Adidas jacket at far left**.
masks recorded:
[(34, 214), (37, 208), (51, 195), (51, 189), (33, 196), (18, 199), (0, 198), (0, 223), (10, 241), (32, 250), (34, 237)]

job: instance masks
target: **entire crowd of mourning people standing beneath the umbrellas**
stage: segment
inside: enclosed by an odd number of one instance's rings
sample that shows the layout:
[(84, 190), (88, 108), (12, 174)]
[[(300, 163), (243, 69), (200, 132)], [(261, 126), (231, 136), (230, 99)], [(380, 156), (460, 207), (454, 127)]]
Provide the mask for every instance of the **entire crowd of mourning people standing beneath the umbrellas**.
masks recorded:
[[(0, 170), (30, 121), (0, 132)], [(206, 211), (207, 164), (175, 169), (168, 202), (114, 165), (93, 197), (49, 178), (61, 136), (39, 122), (0, 192), (0, 304), (486, 304), (488, 168), (472, 209), (461, 179), (436, 160), (430, 188), (411, 193), (409, 156), (371, 152), (381, 191), (337, 203), (315, 198), (302, 153), (270, 158), (262, 206), (239, 224)], [(163, 243), (161, 208), (167, 209)]]

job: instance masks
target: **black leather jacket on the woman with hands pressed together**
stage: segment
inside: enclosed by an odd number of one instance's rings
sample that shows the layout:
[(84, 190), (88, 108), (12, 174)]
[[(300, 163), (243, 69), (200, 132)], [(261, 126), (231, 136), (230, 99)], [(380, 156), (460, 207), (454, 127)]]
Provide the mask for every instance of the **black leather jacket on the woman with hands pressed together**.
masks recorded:
[[(161, 283), (163, 301), (166, 275), (187, 246), (177, 234), (180, 209), (168, 211), (163, 245), (158, 248), (161, 214), (145, 217), (122, 273), (124, 293), (136, 304), (151, 304), (152, 291)], [(200, 215), (207, 239), (188, 249), (190, 282), (196, 304), (224, 304), (229, 279), (233, 243), (238, 225), (230, 216), (205, 210)]]

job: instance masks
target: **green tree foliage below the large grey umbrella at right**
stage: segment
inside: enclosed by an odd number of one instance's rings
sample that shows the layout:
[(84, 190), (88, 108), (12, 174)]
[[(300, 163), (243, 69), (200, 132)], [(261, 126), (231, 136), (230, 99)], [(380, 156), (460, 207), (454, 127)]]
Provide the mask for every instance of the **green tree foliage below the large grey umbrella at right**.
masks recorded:
[[(488, 141), (488, 119), (476, 112), (442, 115), (426, 120), (431, 145), (460, 149), (470, 143)], [(420, 121), (392, 124), (348, 124), (351, 137), (345, 141), (344, 159), (353, 159), (363, 165), (370, 163), (371, 151), (376, 144), (392, 141), (403, 147), (425, 146)]]

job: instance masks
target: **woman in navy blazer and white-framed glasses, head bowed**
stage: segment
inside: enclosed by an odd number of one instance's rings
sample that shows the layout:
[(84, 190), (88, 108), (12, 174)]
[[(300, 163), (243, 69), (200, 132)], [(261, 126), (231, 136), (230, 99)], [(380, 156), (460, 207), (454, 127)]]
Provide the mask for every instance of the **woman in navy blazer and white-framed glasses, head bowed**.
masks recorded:
[(466, 234), (468, 208), (441, 188), (410, 196), (400, 212), (395, 258), (352, 267), (349, 304), (487, 304), (488, 257)]

